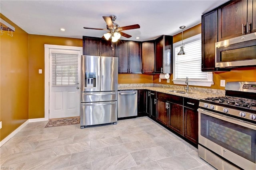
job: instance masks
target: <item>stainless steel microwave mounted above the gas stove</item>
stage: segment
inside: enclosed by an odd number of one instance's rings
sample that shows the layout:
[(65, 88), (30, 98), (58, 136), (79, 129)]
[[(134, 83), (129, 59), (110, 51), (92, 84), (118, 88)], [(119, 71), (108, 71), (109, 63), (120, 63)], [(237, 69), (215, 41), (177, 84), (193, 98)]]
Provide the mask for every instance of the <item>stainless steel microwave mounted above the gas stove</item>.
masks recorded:
[(256, 33), (215, 43), (215, 67), (256, 66)]

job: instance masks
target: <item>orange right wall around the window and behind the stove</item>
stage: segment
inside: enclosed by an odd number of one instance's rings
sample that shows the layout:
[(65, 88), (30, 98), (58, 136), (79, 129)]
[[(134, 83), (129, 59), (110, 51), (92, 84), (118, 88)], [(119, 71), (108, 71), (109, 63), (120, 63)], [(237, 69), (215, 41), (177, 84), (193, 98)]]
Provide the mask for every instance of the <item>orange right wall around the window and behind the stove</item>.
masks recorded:
[[(201, 24), (198, 24), (190, 29), (183, 31), (183, 38), (186, 39), (188, 37), (192, 37), (199, 33), (201, 33)], [(178, 41), (181, 41), (181, 33), (178, 33), (173, 36), (173, 43), (176, 43)], [(159, 80), (159, 74), (154, 75), (153, 77), (154, 83), (173, 85), (172, 74), (170, 74), (170, 83), (167, 83), (166, 80), (161, 80), (161, 82), (159, 82), (158, 80)], [(229, 72), (213, 72), (214, 85), (212, 85), (211, 87), (204, 87), (204, 88), (224, 89), (224, 87), (220, 87), (220, 80), (226, 80), (226, 82), (256, 81), (256, 67), (233, 68)], [(197, 86), (197, 87), (202, 88), (202, 86)]]

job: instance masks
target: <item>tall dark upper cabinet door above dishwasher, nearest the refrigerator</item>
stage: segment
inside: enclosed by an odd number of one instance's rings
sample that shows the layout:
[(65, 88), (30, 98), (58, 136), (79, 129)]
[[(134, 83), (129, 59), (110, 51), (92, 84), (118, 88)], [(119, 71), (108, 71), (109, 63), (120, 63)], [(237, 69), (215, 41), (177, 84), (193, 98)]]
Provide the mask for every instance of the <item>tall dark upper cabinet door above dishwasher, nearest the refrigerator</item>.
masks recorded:
[(118, 57), (118, 73), (128, 73), (128, 41), (118, 40), (115, 54)]

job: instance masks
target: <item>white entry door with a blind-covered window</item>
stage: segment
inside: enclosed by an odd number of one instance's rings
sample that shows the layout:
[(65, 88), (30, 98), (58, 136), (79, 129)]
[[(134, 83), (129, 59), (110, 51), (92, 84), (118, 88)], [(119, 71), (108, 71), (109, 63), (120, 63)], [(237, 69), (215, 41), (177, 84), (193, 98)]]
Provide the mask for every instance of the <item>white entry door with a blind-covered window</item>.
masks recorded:
[(49, 118), (80, 115), (80, 51), (49, 51)]

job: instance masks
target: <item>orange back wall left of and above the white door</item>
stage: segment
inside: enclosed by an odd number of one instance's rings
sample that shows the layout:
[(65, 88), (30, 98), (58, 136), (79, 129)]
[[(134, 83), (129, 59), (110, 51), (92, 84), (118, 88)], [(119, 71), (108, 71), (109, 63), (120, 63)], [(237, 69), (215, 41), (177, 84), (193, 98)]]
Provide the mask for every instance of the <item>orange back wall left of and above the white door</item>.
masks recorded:
[(29, 119), (44, 117), (44, 44), (83, 46), (82, 39), (29, 35)]

